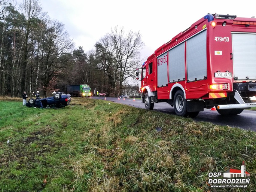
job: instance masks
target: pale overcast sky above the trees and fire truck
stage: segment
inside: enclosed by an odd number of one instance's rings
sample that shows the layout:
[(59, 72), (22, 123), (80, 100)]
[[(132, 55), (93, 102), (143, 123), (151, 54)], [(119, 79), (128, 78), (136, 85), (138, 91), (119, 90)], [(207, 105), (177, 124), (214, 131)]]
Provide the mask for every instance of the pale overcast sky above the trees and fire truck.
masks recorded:
[(41, 0), (43, 11), (62, 22), (76, 48), (91, 50), (111, 27), (140, 31), (142, 59), (207, 13), (256, 16), (253, 1)]

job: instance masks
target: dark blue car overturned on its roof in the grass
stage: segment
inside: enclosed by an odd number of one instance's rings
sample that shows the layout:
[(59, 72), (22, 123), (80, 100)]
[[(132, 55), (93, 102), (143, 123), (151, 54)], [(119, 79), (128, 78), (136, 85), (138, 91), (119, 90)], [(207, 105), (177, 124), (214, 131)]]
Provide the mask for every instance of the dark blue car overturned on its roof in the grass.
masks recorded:
[(49, 106), (50, 108), (61, 108), (69, 105), (70, 103), (70, 94), (65, 94), (63, 92), (57, 92), (52, 97), (47, 97), (41, 99), (40, 97), (30, 98), (26, 103), (27, 107), (40, 107), (46, 108)]

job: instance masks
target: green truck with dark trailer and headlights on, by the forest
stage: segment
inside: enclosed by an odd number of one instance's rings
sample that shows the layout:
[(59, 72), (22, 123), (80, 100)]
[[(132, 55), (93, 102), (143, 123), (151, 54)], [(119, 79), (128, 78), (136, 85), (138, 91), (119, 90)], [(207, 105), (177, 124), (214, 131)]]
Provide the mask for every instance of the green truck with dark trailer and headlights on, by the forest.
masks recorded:
[(92, 95), (88, 85), (68, 85), (67, 92), (74, 97), (90, 97)]

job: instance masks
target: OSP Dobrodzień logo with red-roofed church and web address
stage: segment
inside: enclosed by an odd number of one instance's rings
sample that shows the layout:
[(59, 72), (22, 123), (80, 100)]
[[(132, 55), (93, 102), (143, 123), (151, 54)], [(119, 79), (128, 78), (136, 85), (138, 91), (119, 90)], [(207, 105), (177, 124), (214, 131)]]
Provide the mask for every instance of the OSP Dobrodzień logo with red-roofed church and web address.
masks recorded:
[[(250, 173), (246, 171), (245, 162), (241, 169), (228, 169), (226, 172), (209, 172), (206, 182), (212, 188), (246, 188), (250, 184)], [(223, 178), (219, 178), (219, 177)]]

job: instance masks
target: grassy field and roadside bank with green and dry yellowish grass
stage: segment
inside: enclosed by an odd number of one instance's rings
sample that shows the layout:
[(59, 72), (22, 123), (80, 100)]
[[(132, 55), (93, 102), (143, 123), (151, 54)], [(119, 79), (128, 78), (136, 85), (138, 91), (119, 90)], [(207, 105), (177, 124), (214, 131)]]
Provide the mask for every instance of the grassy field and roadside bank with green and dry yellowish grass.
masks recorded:
[(255, 139), (252, 131), (102, 100), (40, 109), (5, 98), (0, 191), (245, 191), (206, 183), (209, 172), (240, 169), (243, 160), (246, 191), (256, 191)]

